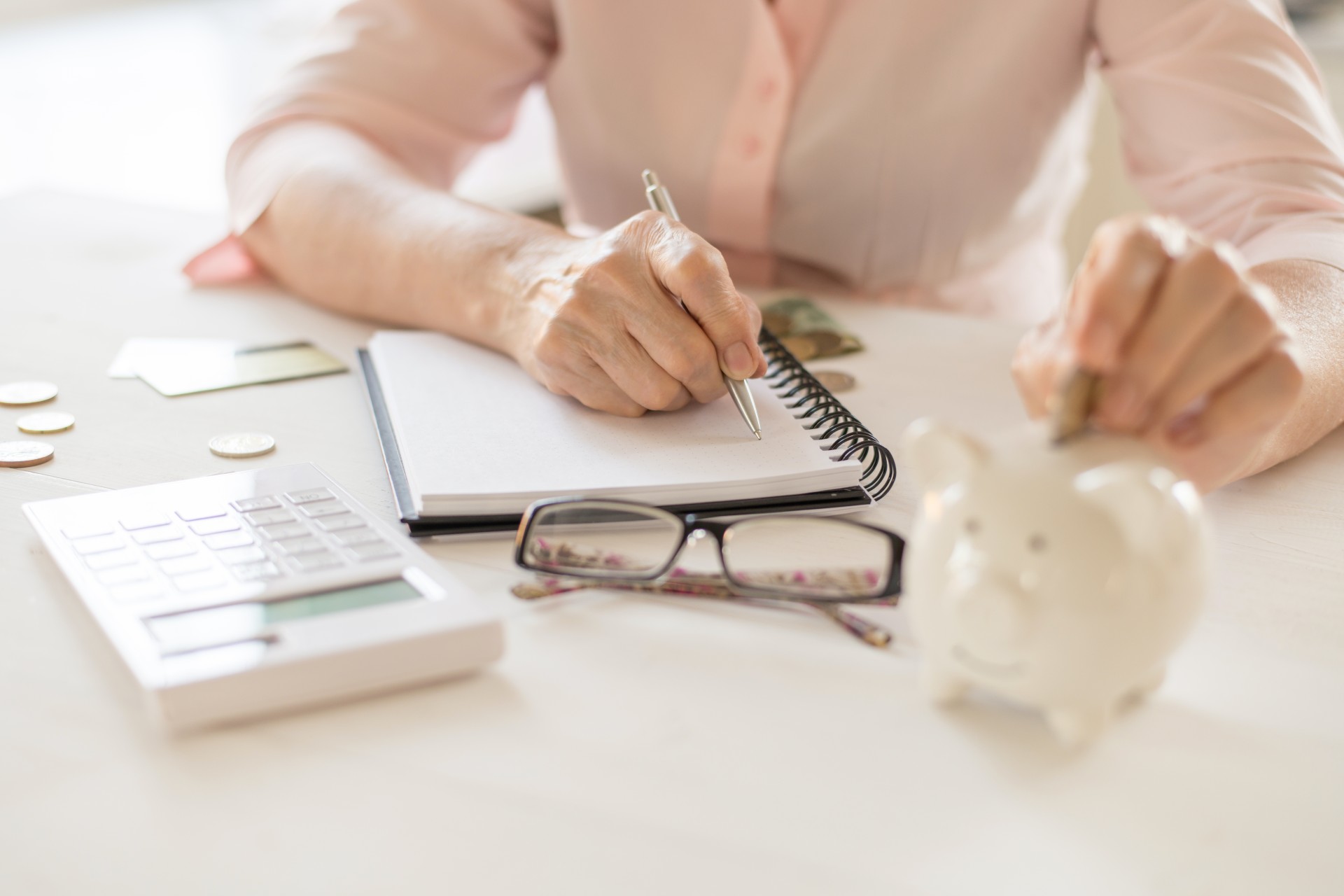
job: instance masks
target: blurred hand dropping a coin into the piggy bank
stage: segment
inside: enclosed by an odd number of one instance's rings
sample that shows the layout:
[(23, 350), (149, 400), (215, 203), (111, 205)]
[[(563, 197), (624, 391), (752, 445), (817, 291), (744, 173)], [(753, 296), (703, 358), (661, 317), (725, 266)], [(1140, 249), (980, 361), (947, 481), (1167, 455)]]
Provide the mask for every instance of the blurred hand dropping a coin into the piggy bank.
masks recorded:
[(1273, 292), (1231, 246), (1154, 216), (1099, 227), (1064, 308), (1017, 347), (1028, 414), (1075, 365), (1102, 376), (1101, 429), (1152, 442), (1204, 490), (1254, 472), (1302, 390)]

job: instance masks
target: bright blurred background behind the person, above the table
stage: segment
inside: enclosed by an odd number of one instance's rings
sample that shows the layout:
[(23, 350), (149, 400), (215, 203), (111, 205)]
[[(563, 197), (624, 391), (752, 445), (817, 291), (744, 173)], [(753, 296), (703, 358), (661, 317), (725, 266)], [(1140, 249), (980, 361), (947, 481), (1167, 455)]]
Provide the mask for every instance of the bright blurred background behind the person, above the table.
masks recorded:
[[(480, 0), (485, 1), (485, 0)], [(0, 0), (0, 197), (59, 189), (219, 214), (223, 156), (258, 93), (341, 0)], [(1289, 0), (1344, 109), (1344, 0)], [(1093, 177), (1067, 234), (1141, 203), (1102, 102)], [(516, 211), (555, 206), (559, 171), (539, 91), (458, 192)]]

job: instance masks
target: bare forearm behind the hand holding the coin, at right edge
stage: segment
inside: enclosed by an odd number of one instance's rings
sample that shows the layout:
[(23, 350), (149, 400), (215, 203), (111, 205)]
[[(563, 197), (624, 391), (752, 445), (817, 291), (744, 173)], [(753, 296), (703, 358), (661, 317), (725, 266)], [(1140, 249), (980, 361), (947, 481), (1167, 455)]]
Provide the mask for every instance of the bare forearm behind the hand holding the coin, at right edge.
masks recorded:
[(1301, 454), (1344, 422), (1344, 271), (1310, 261), (1257, 266), (1253, 275), (1278, 298), (1292, 325), (1302, 368), (1302, 394), (1270, 431), (1241, 476)]

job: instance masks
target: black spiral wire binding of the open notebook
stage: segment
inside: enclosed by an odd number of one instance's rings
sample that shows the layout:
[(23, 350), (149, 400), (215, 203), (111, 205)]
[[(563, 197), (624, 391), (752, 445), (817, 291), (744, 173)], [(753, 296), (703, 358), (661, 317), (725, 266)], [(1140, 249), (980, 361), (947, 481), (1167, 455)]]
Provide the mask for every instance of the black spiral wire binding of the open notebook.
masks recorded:
[[(840, 451), (837, 461), (857, 457), (864, 462), (860, 480), (874, 501), (880, 501), (896, 484), (896, 461), (891, 450), (878, 441), (788, 348), (766, 328), (761, 328), (761, 351), (766, 357), (766, 386), (785, 400), (790, 411), (802, 411), (798, 422), (814, 433), (827, 453)], [(796, 399), (790, 402), (789, 399)]]

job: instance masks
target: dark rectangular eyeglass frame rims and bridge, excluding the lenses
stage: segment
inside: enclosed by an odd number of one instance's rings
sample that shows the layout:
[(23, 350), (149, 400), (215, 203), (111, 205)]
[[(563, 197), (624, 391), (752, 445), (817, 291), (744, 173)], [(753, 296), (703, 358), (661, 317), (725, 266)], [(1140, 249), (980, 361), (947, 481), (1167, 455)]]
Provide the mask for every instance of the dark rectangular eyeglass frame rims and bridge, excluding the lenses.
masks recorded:
[[(656, 570), (650, 570), (649, 572), (632, 572), (632, 571), (618, 570), (613, 571), (614, 575), (602, 575), (601, 572), (598, 572), (597, 575), (577, 575), (577, 574), (558, 572), (556, 570), (543, 570), (535, 566), (530, 566), (528, 563), (524, 562), (524, 552), (528, 544), (527, 536), (532, 529), (532, 524), (535, 523), (538, 514), (542, 510), (563, 504), (595, 504), (602, 506), (610, 506), (617, 510), (624, 509), (640, 513), (648, 513), (652, 510), (655, 513), (664, 514), (672, 521), (679, 523), (681, 525), (681, 536), (677, 541), (677, 548), (672, 551), (671, 556), (668, 557), (668, 562)], [(797, 594), (793, 591), (775, 591), (769, 587), (759, 588), (754, 586), (741, 584), (732, 578), (732, 572), (728, 568), (728, 560), (723, 553), (723, 547), (724, 547), (723, 536), (727, 535), (728, 529), (731, 529), (734, 525), (739, 523), (750, 523), (753, 520), (762, 520), (762, 519), (808, 520), (808, 521), (827, 519), (831, 520), (832, 523), (840, 523), (843, 525), (852, 525), (860, 529), (867, 529), (868, 532), (874, 532), (876, 535), (886, 537), (891, 543), (891, 568), (887, 572), (886, 587), (883, 588), (882, 594), (862, 595), (862, 596), (844, 595), (840, 598), (829, 598), (829, 596)], [(836, 520), (833, 517), (816, 517), (801, 513), (777, 513), (769, 516), (745, 517), (741, 520), (732, 520), (731, 523), (716, 523), (714, 520), (704, 520), (695, 513), (677, 513), (667, 508), (660, 508), (656, 504), (641, 504), (640, 501), (621, 501), (614, 498), (586, 498), (586, 497), (542, 498), (540, 501), (534, 501), (531, 505), (528, 505), (527, 510), (523, 512), (523, 519), (517, 524), (517, 533), (513, 536), (513, 563), (519, 568), (528, 570), (530, 572), (559, 575), (563, 578), (573, 578), (573, 579), (590, 579), (590, 580), (610, 579), (613, 582), (614, 580), (657, 582), (659, 579), (667, 576), (668, 572), (671, 572), (675, 568), (676, 562), (681, 559), (681, 555), (691, 544), (691, 537), (698, 536), (700, 533), (714, 537), (714, 541), (719, 548), (719, 566), (723, 568), (723, 580), (724, 583), (727, 583), (728, 590), (737, 594), (738, 596), (769, 598), (771, 600), (800, 600), (810, 603), (839, 604), (839, 603), (870, 603), (870, 602), (890, 600), (890, 598), (900, 594), (900, 560), (905, 556), (906, 551), (905, 539), (902, 539), (895, 532), (891, 532), (890, 529), (883, 529), (876, 525), (868, 525), (867, 523), (856, 523), (853, 520)]]

